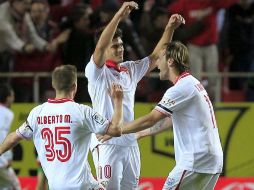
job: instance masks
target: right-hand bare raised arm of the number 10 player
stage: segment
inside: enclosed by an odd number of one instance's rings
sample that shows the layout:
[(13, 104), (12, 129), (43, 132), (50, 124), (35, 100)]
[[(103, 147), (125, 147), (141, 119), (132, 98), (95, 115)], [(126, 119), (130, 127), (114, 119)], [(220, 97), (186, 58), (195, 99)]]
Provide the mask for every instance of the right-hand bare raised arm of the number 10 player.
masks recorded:
[(184, 18), (179, 14), (173, 14), (169, 18), (168, 24), (166, 25), (162, 37), (156, 47), (154, 48), (150, 57), (150, 66), (148, 73), (156, 67), (156, 60), (159, 57), (159, 53), (162, 49), (165, 48), (165, 45), (171, 42), (174, 30), (177, 29), (181, 24), (185, 24)]

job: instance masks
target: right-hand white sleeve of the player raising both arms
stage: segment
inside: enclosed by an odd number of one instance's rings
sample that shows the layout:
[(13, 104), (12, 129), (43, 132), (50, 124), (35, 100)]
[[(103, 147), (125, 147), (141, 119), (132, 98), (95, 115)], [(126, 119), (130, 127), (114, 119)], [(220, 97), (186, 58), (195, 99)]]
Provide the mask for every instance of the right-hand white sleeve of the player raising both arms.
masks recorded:
[(129, 67), (132, 71), (133, 79), (136, 82), (139, 82), (145, 76), (149, 69), (150, 59), (149, 57), (145, 57), (141, 60), (129, 62), (129, 64)]

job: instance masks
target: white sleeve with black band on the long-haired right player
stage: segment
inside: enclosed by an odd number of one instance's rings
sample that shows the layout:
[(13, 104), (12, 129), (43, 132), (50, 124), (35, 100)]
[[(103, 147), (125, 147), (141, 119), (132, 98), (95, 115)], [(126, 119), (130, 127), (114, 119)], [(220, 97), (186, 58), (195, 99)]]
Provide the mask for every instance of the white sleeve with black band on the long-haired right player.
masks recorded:
[(161, 101), (155, 107), (155, 110), (170, 117), (174, 111), (178, 111), (186, 105), (189, 98), (189, 95), (172, 87), (166, 91)]

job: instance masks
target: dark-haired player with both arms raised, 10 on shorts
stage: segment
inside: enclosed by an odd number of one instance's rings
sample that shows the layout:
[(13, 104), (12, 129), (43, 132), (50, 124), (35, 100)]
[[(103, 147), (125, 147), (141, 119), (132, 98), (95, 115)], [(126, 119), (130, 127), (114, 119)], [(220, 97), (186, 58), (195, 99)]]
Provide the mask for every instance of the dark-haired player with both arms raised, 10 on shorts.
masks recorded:
[[(95, 51), (87, 64), (88, 92), (93, 108), (106, 118), (113, 114), (113, 104), (107, 93), (110, 83), (123, 87), (124, 121), (134, 119), (134, 98), (137, 83), (156, 67), (155, 60), (165, 43), (171, 41), (174, 30), (184, 23), (182, 16), (172, 15), (165, 31), (148, 57), (138, 61), (123, 62), (123, 41), (117, 29), (119, 22), (137, 9), (138, 4), (124, 2), (101, 33)], [(138, 188), (140, 176), (140, 153), (135, 134), (112, 138), (101, 144), (92, 137), (90, 149), (96, 168), (97, 179), (109, 190), (133, 190)]]

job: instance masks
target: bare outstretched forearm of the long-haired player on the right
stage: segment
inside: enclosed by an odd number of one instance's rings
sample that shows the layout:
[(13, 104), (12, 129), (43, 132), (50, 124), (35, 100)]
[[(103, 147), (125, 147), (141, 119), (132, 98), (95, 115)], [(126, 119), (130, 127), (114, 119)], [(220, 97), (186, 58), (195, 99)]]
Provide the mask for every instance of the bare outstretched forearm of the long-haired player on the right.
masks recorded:
[(148, 129), (155, 125), (166, 116), (156, 110), (152, 110), (149, 114), (140, 117), (130, 123), (124, 124), (122, 128), (122, 134), (135, 133)]

